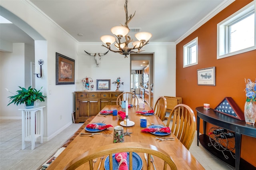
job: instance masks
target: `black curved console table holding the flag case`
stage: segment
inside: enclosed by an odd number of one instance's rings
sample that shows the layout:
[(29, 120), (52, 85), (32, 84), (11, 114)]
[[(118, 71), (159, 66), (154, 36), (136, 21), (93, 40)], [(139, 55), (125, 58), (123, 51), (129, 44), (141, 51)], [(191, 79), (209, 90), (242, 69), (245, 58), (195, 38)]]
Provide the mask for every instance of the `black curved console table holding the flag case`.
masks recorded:
[[(218, 113), (213, 109), (204, 109), (204, 107), (196, 107), (197, 112), (197, 146), (198, 142), (211, 154), (222, 160), (223, 162), (233, 166), (236, 170), (241, 169), (256, 169), (255, 166), (246, 162), (242, 158), (240, 158), (241, 153), (241, 137), (242, 134), (247, 136), (256, 137), (256, 125), (247, 125), (245, 121), (240, 121), (238, 119), (234, 119), (222, 113)], [(203, 132), (199, 136), (199, 129), (200, 129), (200, 119), (203, 120)], [(228, 130), (235, 132), (235, 156), (236, 159), (230, 158), (227, 160), (226, 158), (222, 158), (222, 153), (218, 153), (220, 151), (216, 151), (216, 149), (212, 146), (209, 147), (209, 137), (206, 134), (206, 122), (211, 123), (213, 125), (226, 128)]]

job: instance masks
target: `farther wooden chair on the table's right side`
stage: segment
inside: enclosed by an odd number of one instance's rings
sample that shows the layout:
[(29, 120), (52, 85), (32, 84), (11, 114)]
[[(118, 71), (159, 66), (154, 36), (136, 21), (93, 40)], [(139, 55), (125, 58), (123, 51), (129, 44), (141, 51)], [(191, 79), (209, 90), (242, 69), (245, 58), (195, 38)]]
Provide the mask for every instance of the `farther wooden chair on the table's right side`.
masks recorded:
[(156, 116), (158, 116), (162, 121), (164, 121), (165, 113), (166, 113), (166, 107), (167, 107), (167, 102), (165, 97), (160, 96), (155, 105), (154, 105), (154, 113)]

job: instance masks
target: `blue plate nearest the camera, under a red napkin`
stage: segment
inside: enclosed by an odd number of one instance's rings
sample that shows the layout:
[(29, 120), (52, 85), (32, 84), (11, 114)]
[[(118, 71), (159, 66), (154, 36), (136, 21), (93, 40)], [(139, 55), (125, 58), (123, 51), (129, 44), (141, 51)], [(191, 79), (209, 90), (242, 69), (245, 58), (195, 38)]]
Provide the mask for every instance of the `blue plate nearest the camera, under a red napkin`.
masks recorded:
[[(128, 163), (128, 168), (129, 168), (129, 152), (127, 152), (127, 163)], [(113, 170), (118, 170), (118, 162), (116, 161), (115, 154), (112, 154), (112, 159), (113, 159)], [(105, 162), (104, 162), (104, 168), (105, 170), (109, 170), (109, 156), (106, 157)], [(132, 153), (132, 170), (141, 170), (142, 169), (142, 159), (140, 156), (133, 152)]]

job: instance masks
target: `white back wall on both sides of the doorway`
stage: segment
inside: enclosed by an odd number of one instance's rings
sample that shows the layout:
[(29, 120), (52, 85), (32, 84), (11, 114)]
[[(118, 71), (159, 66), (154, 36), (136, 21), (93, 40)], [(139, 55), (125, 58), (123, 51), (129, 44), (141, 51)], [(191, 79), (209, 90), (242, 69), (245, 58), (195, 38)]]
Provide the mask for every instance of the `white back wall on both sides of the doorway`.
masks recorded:
[[(130, 91), (130, 56), (124, 58), (119, 53), (109, 51), (101, 57), (96, 67), (94, 57), (86, 54), (104, 53), (106, 48), (101, 43), (79, 43), (78, 45), (78, 79), (76, 91), (84, 90), (82, 79), (91, 77), (96, 88), (96, 79), (110, 79), (111, 83), (121, 77), (120, 90)], [(176, 45), (174, 43), (149, 43), (144, 48), (146, 53), (154, 53), (154, 103), (160, 96), (176, 95)], [(111, 90), (116, 86), (111, 85)]]

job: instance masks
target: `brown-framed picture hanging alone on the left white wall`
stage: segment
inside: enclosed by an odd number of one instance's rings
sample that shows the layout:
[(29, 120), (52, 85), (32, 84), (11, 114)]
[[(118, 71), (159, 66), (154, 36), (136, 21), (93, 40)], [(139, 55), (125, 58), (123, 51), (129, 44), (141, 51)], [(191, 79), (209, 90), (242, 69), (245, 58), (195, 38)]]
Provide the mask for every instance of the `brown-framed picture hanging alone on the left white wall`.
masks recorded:
[(56, 53), (56, 85), (75, 84), (75, 60)]

